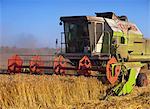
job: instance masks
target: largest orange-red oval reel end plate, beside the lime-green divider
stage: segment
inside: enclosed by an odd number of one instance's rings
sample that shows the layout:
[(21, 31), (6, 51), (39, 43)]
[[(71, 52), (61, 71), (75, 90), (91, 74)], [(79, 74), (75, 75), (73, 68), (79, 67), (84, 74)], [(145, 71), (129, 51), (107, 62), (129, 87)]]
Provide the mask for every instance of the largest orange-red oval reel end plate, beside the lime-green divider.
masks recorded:
[(114, 84), (117, 80), (118, 80), (118, 76), (120, 74), (120, 71), (121, 71), (121, 66), (120, 65), (116, 65), (114, 67), (114, 76), (112, 76), (112, 68), (111, 68), (111, 64), (115, 64), (117, 63), (117, 60), (115, 57), (112, 57), (107, 65), (106, 65), (106, 76), (107, 76), (107, 79), (108, 81), (111, 83), (111, 84)]

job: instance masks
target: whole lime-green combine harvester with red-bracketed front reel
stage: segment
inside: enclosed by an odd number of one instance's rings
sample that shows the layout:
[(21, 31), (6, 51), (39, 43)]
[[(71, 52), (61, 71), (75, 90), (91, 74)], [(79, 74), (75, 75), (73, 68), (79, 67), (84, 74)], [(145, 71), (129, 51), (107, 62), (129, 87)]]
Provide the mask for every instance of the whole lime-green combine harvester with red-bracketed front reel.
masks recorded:
[(14, 55), (8, 59), (10, 74), (28, 71), (96, 76), (112, 84), (116, 95), (130, 93), (134, 85), (148, 84), (141, 70), (144, 66), (150, 68), (150, 40), (144, 39), (126, 16), (106, 12), (60, 20), (60, 25), (64, 24), (61, 52), (54, 56)]

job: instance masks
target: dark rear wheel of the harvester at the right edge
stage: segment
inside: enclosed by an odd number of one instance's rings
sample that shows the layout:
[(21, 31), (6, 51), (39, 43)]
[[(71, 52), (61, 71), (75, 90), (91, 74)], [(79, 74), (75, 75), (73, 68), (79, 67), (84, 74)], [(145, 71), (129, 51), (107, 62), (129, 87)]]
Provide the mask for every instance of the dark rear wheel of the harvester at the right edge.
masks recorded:
[(136, 85), (138, 87), (143, 87), (148, 85), (148, 79), (145, 73), (139, 73), (136, 79)]

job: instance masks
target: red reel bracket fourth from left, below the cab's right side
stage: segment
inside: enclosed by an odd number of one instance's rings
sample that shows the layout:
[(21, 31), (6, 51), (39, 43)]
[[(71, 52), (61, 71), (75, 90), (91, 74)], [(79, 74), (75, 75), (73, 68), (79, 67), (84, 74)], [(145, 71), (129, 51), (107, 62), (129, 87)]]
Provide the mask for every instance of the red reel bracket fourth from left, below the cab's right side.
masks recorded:
[(84, 56), (80, 61), (79, 61), (79, 75), (85, 75), (85, 76), (90, 76), (90, 71), (88, 70), (91, 68), (92, 64), (88, 56)]

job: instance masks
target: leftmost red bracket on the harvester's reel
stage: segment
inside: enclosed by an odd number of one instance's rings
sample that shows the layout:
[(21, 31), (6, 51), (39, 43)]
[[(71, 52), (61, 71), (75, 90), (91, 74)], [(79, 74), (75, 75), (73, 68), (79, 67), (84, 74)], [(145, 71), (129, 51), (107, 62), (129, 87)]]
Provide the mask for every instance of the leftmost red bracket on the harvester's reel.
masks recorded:
[(23, 60), (19, 55), (13, 55), (8, 59), (8, 72), (11, 73), (20, 73)]

